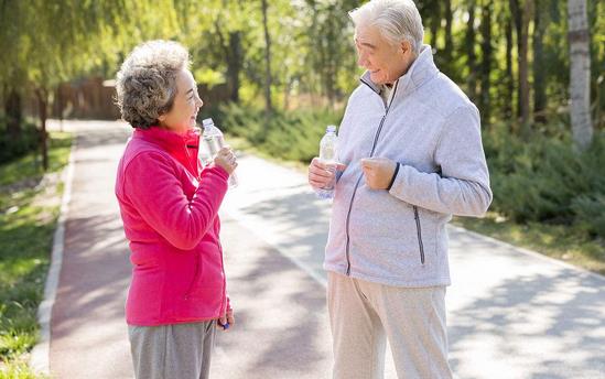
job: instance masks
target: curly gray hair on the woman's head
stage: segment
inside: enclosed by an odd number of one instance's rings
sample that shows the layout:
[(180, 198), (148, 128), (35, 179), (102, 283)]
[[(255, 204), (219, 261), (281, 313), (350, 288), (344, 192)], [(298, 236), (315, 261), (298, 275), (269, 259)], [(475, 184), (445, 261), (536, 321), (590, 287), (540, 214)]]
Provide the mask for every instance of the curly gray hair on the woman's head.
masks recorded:
[(187, 50), (173, 41), (150, 41), (134, 47), (116, 80), (122, 119), (139, 129), (158, 124), (160, 115), (174, 104), (176, 75), (188, 65)]

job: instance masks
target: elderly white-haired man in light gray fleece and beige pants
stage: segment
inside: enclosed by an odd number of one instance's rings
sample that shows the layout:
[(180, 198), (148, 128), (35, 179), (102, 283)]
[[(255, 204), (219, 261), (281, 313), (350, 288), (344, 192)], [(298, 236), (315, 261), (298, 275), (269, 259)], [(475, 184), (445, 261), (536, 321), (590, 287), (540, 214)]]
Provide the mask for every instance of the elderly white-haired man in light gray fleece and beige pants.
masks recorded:
[[(411, 0), (350, 12), (366, 68), (339, 129), (324, 268), (334, 378), (451, 378), (445, 327), (452, 215), (485, 214), (489, 175), (477, 108), (433, 63)], [(334, 174), (318, 159), (309, 183)]]

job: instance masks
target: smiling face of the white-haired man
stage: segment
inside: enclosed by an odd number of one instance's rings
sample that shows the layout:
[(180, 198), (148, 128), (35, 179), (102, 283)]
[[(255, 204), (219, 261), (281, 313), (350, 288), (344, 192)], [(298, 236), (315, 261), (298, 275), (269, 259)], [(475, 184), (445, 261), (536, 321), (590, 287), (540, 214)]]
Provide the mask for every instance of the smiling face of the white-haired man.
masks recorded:
[(376, 26), (355, 29), (357, 64), (370, 72), (375, 84), (392, 84), (408, 71), (413, 62), (410, 43), (390, 44)]

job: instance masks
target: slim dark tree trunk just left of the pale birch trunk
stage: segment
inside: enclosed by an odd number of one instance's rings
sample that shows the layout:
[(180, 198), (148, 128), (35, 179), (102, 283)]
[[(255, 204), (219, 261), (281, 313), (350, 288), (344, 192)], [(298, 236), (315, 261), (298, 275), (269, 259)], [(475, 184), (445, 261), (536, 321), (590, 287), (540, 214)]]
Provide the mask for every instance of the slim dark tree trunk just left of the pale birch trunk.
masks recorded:
[[(542, 0), (543, 1), (543, 0)], [(547, 107), (547, 90), (544, 84), (543, 36), (544, 15), (542, 3), (536, 0), (536, 14), (533, 18), (533, 121), (544, 123)]]

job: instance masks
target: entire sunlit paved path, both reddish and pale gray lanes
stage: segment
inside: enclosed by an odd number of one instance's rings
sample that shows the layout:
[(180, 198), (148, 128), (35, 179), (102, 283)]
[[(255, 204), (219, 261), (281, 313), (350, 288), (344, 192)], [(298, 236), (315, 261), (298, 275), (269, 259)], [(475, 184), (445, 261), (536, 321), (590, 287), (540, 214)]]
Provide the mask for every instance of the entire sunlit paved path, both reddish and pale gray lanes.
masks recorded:
[[(56, 378), (132, 378), (123, 302), (128, 248), (112, 195), (128, 128), (78, 132), (65, 252), (53, 310)], [(224, 203), (237, 325), (220, 333), (213, 378), (328, 378), (321, 270), (329, 204), (304, 174), (242, 156)], [(605, 378), (605, 280), (451, 228), (451, 364), (460, 378)], [(387, 378), (395, 378), (392, 364)]]

